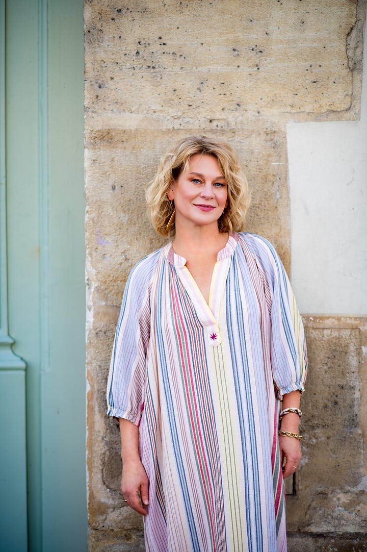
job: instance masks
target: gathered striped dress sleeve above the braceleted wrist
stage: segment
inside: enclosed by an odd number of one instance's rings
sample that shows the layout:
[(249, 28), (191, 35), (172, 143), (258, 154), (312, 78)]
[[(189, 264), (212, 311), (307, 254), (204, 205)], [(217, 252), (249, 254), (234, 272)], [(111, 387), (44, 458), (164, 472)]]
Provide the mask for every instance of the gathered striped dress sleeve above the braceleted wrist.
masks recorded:
[(254, 253), (269, 285), (269, 293), (265, 295), (268, 295), (271, 323), (270, 360), (274, 385), (281, 400), (291, 391), (304, 392), (307, 374), (305, 331), (278, 253), (264, 238), (256, 236), (253, 239)]

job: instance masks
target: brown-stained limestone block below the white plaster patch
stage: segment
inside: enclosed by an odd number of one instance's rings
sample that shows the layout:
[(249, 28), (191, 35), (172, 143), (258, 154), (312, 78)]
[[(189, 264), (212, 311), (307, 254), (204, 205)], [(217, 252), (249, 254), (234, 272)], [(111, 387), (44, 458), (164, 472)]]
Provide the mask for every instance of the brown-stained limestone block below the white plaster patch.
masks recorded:
[(367, 535), (367, 320), (306, 319), (310, 371), (302, 402), (303, 458), (288, 528)]

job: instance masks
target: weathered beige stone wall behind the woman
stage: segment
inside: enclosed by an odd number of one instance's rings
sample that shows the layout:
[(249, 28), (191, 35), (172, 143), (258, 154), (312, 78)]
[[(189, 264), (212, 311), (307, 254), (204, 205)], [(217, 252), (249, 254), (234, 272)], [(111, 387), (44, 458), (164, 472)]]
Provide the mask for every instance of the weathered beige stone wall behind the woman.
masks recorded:
[[(269, 238), (289, 269), (285, 125), (358, 119), (365, 2), (87, 0), (84, 13), (89, 550), (137, 551), (141, 519), (121, 501), (105, 386), (127, 275), (163, 243), (144, 187), (172, 142), (224, 136), (252, 189), (247, 229)], [(325, 539), (362, 543), (367, 534), (366, 320), (305, 323), (304, 459), (288, 483), (297, 492), (288, 496), (289, 542), (326, 550)]]

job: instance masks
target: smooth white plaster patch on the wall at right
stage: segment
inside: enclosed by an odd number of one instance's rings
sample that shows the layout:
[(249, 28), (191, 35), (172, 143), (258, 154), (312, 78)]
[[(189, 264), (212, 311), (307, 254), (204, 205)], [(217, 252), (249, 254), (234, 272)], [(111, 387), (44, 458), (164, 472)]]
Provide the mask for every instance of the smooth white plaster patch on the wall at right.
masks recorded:
[(291, 281), (301, 312), (367, 314), (364, 57), (360, 121), (287, 125)]

